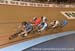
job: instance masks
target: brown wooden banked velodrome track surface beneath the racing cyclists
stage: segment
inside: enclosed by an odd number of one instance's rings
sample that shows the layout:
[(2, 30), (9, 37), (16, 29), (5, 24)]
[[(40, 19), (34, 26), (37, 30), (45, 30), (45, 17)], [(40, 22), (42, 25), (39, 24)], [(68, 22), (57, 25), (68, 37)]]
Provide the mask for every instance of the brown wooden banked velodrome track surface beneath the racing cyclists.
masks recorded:
[[(22, 7), (22, 6), (8, 6), (0, 5), (0, 48), (11, 44), (30, 40), (32, 38), (44, 36), (47, 34), (75, 30), (75, 19), (67, 19), (60, 11), (75, 11), (75, 8), (37, 8), (37, 7)], [(46, 16), (48, 22), (52, 20), (68, 20), (68, 25), (62, 29), (49, 30), (38, 34), (30, 34), (28, 37), (18, 37), (9, 40), (8, 37), (17, 31), (17, 26), (22, 21), (29, 21), (32, 17)], [(23, 40), (22, 40), (23, 39)]]

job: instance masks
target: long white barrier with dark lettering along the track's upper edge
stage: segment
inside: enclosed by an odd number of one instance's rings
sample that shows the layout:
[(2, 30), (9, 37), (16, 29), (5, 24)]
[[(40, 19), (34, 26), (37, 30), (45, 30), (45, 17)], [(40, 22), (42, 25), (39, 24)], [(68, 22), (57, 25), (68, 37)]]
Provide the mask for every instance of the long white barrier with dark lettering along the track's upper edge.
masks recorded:
[(35, 2), (23, 2), (13, 0), (0, 0), (0, 4), (6, 5), (18, 5), (18, 6), (31, 6), (31, 7), (63, 7), (63, 8), (75, 8), (73, 4), (48, 4), (48, 3), (35, 3)]

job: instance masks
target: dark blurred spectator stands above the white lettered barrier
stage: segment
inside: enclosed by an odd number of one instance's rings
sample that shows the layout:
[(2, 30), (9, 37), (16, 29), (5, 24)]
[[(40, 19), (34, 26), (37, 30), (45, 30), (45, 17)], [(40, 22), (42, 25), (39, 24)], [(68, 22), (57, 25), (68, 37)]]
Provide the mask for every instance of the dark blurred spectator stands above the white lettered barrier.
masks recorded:
[(40, 2), (40, 3), (75, 3), (75, 0), (14, 0), (24, 2)]

